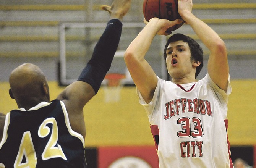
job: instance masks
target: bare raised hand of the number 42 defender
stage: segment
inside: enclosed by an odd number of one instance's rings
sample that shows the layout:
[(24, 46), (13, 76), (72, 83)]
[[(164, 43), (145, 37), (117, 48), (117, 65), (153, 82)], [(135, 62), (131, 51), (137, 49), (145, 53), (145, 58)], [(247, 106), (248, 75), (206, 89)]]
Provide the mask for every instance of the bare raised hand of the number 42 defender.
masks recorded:
[(102, 5), (101, 9), (110, 13), (110, 18), (122, 20), (131, 6), (131, 0), (114, 0), (111, 6)]

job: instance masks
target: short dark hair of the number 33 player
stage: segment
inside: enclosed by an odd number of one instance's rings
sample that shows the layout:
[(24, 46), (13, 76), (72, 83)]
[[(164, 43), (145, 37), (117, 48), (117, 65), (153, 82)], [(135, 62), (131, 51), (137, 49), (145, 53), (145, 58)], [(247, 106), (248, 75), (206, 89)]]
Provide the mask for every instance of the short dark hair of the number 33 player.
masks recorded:
[(201, 64), (196, 67), (196, 77), (198, 76), (198, 74), (200, 73), (201, 69), (203, 68), (203, 63), (204, 63), (204, 59), (203, 59), (203, 49), (201, 48), (201, 46), (198, 44), (198, 42), (196, 42), (196, 40), (192, 39), (189, 36), (186, 36), (184, 34), (173, 34), (171, 37), (169, 37), (169, 39), (166, 42), (166, 45), (164, 47), (164, 59), (166, 60), (166, 50), (168, 45), (171, 42), (176, 42), (176, 41), (183, 41), (188, 43), (188, 46), (190, 47), (190, 53), (191, 53), (191, 58), (195, 61), (199, 61), (201, 62)]

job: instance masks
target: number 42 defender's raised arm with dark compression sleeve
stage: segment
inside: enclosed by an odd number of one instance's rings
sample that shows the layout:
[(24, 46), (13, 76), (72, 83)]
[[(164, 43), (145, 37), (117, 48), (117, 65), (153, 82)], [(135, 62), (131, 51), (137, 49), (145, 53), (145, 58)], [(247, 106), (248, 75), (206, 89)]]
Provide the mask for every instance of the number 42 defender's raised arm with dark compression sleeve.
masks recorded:
[[(97, 42), (91, 60), (87, 63), (78, 81), (70, 84), (57, 97), (63, 100), (70, 117), (71, 127), (85, 135), (83, 107), (98, 92), (105, 74), (117, 50), (122, 32), (122, 19), (131, 5), (131, 0), (114, 0), (112, 6), (103, 6), (110, 13), (104, 33)], [(83, 130), (80, 130), (83, 129)]]

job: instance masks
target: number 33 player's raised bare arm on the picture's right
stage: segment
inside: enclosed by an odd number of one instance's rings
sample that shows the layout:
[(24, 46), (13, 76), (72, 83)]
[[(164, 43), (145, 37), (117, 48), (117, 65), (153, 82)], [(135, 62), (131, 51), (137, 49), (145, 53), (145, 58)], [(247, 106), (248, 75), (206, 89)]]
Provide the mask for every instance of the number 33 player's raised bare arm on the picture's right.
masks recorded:
[(219, 35), (211, 29), (206, 23), (196, 18), (191, 13), (192, 1), (179, 0), (178, 11), (182, 19), (189, 24), (199, 39), (210, 50), (208, 61), (208, 73), (214, 83), (220, 89), (226, 91), (228, 84), (228, 59), (225, 43), (220, 39)]

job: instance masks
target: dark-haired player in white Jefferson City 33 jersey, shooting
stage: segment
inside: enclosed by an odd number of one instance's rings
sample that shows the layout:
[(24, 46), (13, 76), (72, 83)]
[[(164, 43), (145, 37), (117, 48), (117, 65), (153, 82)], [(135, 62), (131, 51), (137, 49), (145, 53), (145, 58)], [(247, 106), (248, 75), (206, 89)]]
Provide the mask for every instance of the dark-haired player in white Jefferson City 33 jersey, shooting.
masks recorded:
[(203, 66), (199, 44), (174, 34), (164, 48), (172, 81), (154, 73), (145, 55), (156, 34), (182, 20), (152, 18), (125, 52), (125, 62), (146, 109), (160, 168), (231, 168), (227, 139), (227, 102), (231, 92), (227, 50), (209, 26), (191, 13), (192, 0), (179, 0), (178, 11), (210, 50), (208, 73), (197, 81)]

